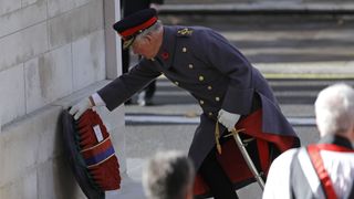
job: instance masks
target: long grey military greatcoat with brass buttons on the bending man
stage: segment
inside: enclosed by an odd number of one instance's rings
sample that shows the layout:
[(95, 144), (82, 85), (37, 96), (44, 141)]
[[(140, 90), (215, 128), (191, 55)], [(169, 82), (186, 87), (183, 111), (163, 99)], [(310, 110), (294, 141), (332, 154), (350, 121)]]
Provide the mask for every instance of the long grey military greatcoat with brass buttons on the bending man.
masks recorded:
[(156, 57), (143, 59), (98, 94), (112, 111), (160, 74), (188, 91), (202, 108), (189, 148), (196, 168), (215, 146), (220, 108), (248, 115), (254, 97), (260, 98), (263, 132), (295, 136), (260, 72), (222, 35), (208, 28), (164, 27)]

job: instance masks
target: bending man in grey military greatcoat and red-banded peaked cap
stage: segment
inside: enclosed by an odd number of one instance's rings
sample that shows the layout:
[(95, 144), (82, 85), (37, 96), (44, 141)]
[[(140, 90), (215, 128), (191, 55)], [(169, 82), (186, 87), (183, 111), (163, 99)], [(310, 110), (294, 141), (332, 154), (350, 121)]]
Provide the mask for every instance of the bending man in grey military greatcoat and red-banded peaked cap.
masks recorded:
[[(195, 195), (207, 196), (198, 191), (206, 188), (216, 199), (233, 199), (237, 198), (235, 189), (250, 182), (242, 178), (247, 171), (232, 166), (236, 172), (233, 178), (227, 169), (230, 163), (223, 161), (227, 163), (226, 167), (219, 164), (230, 151), (222, 146), (221, 154), (223, 135), (236, 127), (244, 128), (243, 138), (248, 140), (252, 140), (249, 137), (266, 140), (266, 144), (251, 142), (258, 151), (262, 151), (251, 155), (256, 161), (260, 159), (256, 165), (264, 174), (275, 150), (299, 146), (299, 139), (281, 113), (267, 81), (219, 33), (201, 27), (162, 25), (154, 9), (132, 14), (116, 22), (114, 29), (124, 40), (124, 45), (132, 45), (134, 53), (143, 59), (128, 73), (74, 105), (70, 113), (79, 118), (85, 109), (102, 105), (112, 111), (164, 74), (176, 86), (188, 91), (202, 108), (188, 154), (206, 185), (200, 187), (197, 180)], [(216, 134), (216, 129), (220, 134)], [(274, 144), (268, 145), (267, 142)], [(219, 153), (216, 148), (219, 148)], [(233, 154), (231, 156), (241, 158)], [(262, 157), (267, 157), (266, 160)], [(240, 158), (233, 163), (244, 165)]]

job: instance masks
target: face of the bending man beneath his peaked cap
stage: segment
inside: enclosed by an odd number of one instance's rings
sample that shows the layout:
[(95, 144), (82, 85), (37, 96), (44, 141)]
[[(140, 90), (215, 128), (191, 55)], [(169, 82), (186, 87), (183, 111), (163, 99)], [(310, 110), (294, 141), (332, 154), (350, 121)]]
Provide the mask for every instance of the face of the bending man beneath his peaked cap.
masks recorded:
[(148, 36), (137, 38), (132, 44), (132, 49), (134, 54), (139, 54), (145, 59), (153, 59), (156, 55), (155, 44)]

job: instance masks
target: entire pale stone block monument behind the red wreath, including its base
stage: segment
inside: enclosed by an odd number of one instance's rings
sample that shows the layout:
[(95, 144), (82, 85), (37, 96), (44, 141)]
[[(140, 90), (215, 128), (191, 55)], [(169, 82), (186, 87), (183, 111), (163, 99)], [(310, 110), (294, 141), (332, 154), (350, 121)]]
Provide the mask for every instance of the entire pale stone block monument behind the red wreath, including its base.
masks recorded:
[[(0, 198), (84, 198), (63, 156), (60, 115), (121, 73), (119, 43), (106, 53), (114, 34), (105, 22), (119, 11), (105, 6), (116, 2), (0, 1)], [(98, 113), (125, 172), (123, 109)]]

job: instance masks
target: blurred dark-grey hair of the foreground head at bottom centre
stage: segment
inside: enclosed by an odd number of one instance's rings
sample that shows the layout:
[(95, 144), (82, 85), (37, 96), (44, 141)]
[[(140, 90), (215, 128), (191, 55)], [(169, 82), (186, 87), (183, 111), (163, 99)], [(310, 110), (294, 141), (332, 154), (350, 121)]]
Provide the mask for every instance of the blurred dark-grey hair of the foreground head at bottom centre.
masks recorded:
[(143, 170), (143, 187), (148, 199), (183, 199), (191, 189), (195, 168), (180, 151), (157, 153)]

